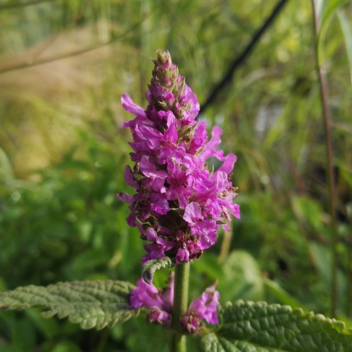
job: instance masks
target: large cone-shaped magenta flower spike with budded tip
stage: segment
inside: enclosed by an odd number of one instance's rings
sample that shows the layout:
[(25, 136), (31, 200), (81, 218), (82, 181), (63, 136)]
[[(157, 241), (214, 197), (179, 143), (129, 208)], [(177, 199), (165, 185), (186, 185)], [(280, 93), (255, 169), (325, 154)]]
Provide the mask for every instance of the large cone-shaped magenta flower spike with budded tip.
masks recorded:
[[(224, 156), (222, 130), (215, 126), (208, 140), (206, 122), (197, 122), (199, 103), (185, 84), (167, 51), (158, 51), (146, 93), (146, 110), (122, 96), (122, 107), (135, 118), (125, 122), (132, 132), (133, 169), (125, 170), (133, 196), (118, 194), (129, 203), (127, 222), (137, 226), (144, 248), (142, 263), (168, 256), (178, 263), (199, 258), (215, 244), (220, 225), (228, 230), (230, 215), (239, 218), (231, 182), (236, 156)], [(213, 172), (209, 158), (222, 164)]]

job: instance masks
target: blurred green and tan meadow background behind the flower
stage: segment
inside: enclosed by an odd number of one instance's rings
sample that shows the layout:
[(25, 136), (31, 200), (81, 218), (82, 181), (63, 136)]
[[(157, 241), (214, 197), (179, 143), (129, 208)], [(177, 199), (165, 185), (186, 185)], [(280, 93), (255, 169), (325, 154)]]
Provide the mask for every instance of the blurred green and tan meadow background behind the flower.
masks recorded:
[[(266, 300), (329, 315), (331, 219), (312, 6), (286, 2), (201, 116), (222, 127), (222, 148), (238, 157), (241, 220), (192, 263), (191, 296), (219, 279), (222, 303)], [(339, 2), (320, 54), (337, 186), (337, 316), (352, 327), (352, 4)], [(115, 199), (128, 188), (131, 151), (121, 94), (146, 107), (151, 58), (162, 48), (205, 103), (276, 4), (0, 1), (0, 289), (137, 281), (144, 243)], [(167, 276), (158, 272), (156, 286)], [(42, 320), (37, 310), (0, 313), (6, 352), (167, 351), (158, 332), (144, 318), (97, 332)]]

